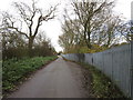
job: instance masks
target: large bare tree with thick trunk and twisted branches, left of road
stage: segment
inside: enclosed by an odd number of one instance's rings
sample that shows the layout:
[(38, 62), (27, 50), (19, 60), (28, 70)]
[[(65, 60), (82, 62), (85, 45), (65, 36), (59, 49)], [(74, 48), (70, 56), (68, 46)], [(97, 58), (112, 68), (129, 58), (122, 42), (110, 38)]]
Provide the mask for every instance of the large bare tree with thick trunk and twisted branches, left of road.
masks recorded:
[[(21, 22), (21, 28), (17, 26), (17, 22), (8, 13), (4, 17), (4, 23), (9, 29), (17, 31), (29, 40), (29, 56), (31, 57), (33, 41), (39, 32), (39, 28), (42, 26), (43, 21), (49, 21), (55, 17), (54, 12), (57, 10), (57, 6), (51, 7), (47, 14), (37, 7), (37, 2), (34, 0), (32, 0), (31, 7), (23, 2), (13, 2), (13, 6), (20, 16), (19, 20)], [(25, 29), (22, 31), (22, 28), (25, 28), (24, 26), (27, 26), (28, 31)]]

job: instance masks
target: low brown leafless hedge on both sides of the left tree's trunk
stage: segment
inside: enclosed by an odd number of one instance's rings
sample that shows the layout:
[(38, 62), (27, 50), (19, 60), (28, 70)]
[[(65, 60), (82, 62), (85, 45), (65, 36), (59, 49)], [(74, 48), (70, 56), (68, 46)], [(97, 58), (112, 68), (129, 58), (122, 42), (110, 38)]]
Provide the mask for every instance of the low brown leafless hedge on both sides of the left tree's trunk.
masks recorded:
[[(21, 59), (29, 57), (28, 41), (18, 33), (2, 33), (2, 58), (7, 59)], [(41, 33), (37, 36), (32, 46), (32, 57), (47, 57), (55, 54), (55, 50), (51, 44), (50, 39)]]

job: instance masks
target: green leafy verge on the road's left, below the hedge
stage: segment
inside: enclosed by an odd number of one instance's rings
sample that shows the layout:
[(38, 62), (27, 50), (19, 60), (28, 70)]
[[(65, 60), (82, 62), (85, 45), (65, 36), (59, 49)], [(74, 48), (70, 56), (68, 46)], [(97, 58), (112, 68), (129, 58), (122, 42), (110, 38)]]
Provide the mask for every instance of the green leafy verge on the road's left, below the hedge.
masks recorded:
[(2, 93), (3, 97), (14, 91), (17, 86), (29, 74), (41, 69), (58, 57), (35, 57), (21, 60), (10, 59), (2, 63)]

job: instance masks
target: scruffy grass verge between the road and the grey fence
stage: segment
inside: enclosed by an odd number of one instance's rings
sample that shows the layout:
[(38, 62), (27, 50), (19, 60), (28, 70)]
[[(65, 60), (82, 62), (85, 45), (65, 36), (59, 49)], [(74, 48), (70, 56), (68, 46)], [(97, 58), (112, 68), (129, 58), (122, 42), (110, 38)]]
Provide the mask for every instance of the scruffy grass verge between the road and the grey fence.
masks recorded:
[[(65, 58), (63, 59), (66, 60)], [(70, 61), (70, 60), (66, 60), (66, 61)], [(72, 62), (75, 62), (75, 61), (72, 61)], [(80, 64), (86, 71), (89, 71), (88, 73), (91, 72), (91, 78), (92, 78), (91, 93), (93, 98), (122, 98), (124, 100), (131, 100), (123, 94), (123, 92), (119, 89), (119, 87), (115, 83), (113, 83), (109, 77), (106, 77), (100, 70), (98, 70), (95, 67), (86, 63), (81, 63), (81, 62), (75, 62), (75, 63)]]

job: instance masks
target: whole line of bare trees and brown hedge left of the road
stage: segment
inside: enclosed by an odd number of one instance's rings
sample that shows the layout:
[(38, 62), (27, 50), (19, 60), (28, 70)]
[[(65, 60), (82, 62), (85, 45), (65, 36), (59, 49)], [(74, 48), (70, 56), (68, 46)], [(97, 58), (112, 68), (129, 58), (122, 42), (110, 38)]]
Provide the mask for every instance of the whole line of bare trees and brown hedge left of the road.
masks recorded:
[(13, 2), (16, 14), (1, 12), (0, 32), (2, 34), (3, 59), (23, 58), (34, 56), (53, 56), (54, 48), (50, 39), (41, 32), (43, 21), (54, 19), (55, 7), (42, 11), (37, 7), (37, 1), (31, 3)]

